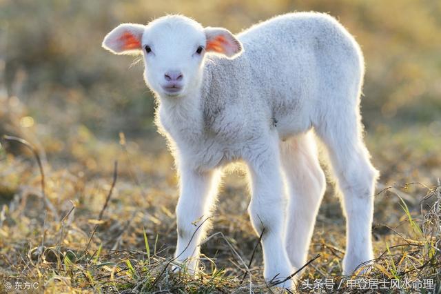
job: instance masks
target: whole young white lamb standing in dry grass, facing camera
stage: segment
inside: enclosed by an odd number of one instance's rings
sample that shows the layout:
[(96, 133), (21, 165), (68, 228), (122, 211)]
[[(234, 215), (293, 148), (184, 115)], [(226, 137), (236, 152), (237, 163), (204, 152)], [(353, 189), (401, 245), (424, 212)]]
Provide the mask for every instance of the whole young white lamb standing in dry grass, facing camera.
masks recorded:
[[(325, 191), (317, 138), (342, 192), (343, 274), (373, 259), (378, 171), (362, 139), (364, 61), (336, 19), (289, 13), (235, 36), (167, 15), (146, 26), (123, 23), (105, 36), (103, 47), (143, 55), (145, 83), (158, 102), (156, 125), (180, 176), (177, 262), (197, 272), (203, 221), (223, 167), (240, 160), (249, 169), (252, 225), (263, 232), (265, 279), (283, 281), (305, 264)], [(279, 286), (290, 288), (294, 281)]]

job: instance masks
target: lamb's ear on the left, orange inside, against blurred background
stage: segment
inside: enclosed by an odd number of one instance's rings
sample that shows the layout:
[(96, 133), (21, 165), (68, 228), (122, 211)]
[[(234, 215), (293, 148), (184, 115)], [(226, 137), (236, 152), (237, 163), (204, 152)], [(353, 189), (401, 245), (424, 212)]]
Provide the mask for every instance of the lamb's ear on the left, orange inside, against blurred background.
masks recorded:
[(144, 30), (140, 24), (122, 23), (104, 37), (103, 48), (118, 55), (139, 55)]

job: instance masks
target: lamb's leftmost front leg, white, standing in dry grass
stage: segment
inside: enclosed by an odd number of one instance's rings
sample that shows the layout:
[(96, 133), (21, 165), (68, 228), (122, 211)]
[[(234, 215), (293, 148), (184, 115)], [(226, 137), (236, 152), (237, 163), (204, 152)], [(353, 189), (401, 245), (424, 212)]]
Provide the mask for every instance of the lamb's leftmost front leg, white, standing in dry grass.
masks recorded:
[(205, 173), (191, 168), (180, 169), (180, 196), (176, 206), (178, 242), (174, 257), (185, 263), (189, 273), (196, 273), (199, 246), (205, 237), (210, 206), (216, 196), (218, 171)]

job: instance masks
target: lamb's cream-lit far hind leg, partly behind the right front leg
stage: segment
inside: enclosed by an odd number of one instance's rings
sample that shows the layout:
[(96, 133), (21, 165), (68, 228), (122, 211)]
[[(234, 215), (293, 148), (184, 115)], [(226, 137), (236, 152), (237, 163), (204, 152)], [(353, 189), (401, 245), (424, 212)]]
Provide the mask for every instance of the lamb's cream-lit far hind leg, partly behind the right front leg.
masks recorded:
[(300, 268), (307, 259), (326, 185), (314, 134), (310, 131), (280, 142), (280, 158), (289, 195), (285, 243), (291, 264)]

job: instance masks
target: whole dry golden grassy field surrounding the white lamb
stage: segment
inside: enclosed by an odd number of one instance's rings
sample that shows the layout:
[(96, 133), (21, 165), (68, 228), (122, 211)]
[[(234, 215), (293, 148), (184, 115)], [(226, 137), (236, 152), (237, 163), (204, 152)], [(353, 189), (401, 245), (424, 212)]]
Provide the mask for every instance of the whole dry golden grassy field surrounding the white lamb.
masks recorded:
[(201, 244), (203, 273), (170, 271), (173, 159), (142, 63), (101, 41), (165, 13), (240, 32), (294, 10), (328, 12), (360, 43), (365, 141), (381, 173), (367, 273), (341, 276), (345, 219), (329, 177), (298, 291), (440, 293), (441, 3), (430, 0), (0, 0), (0, 292), (282, 292), (263, 280), (240, 167)]

